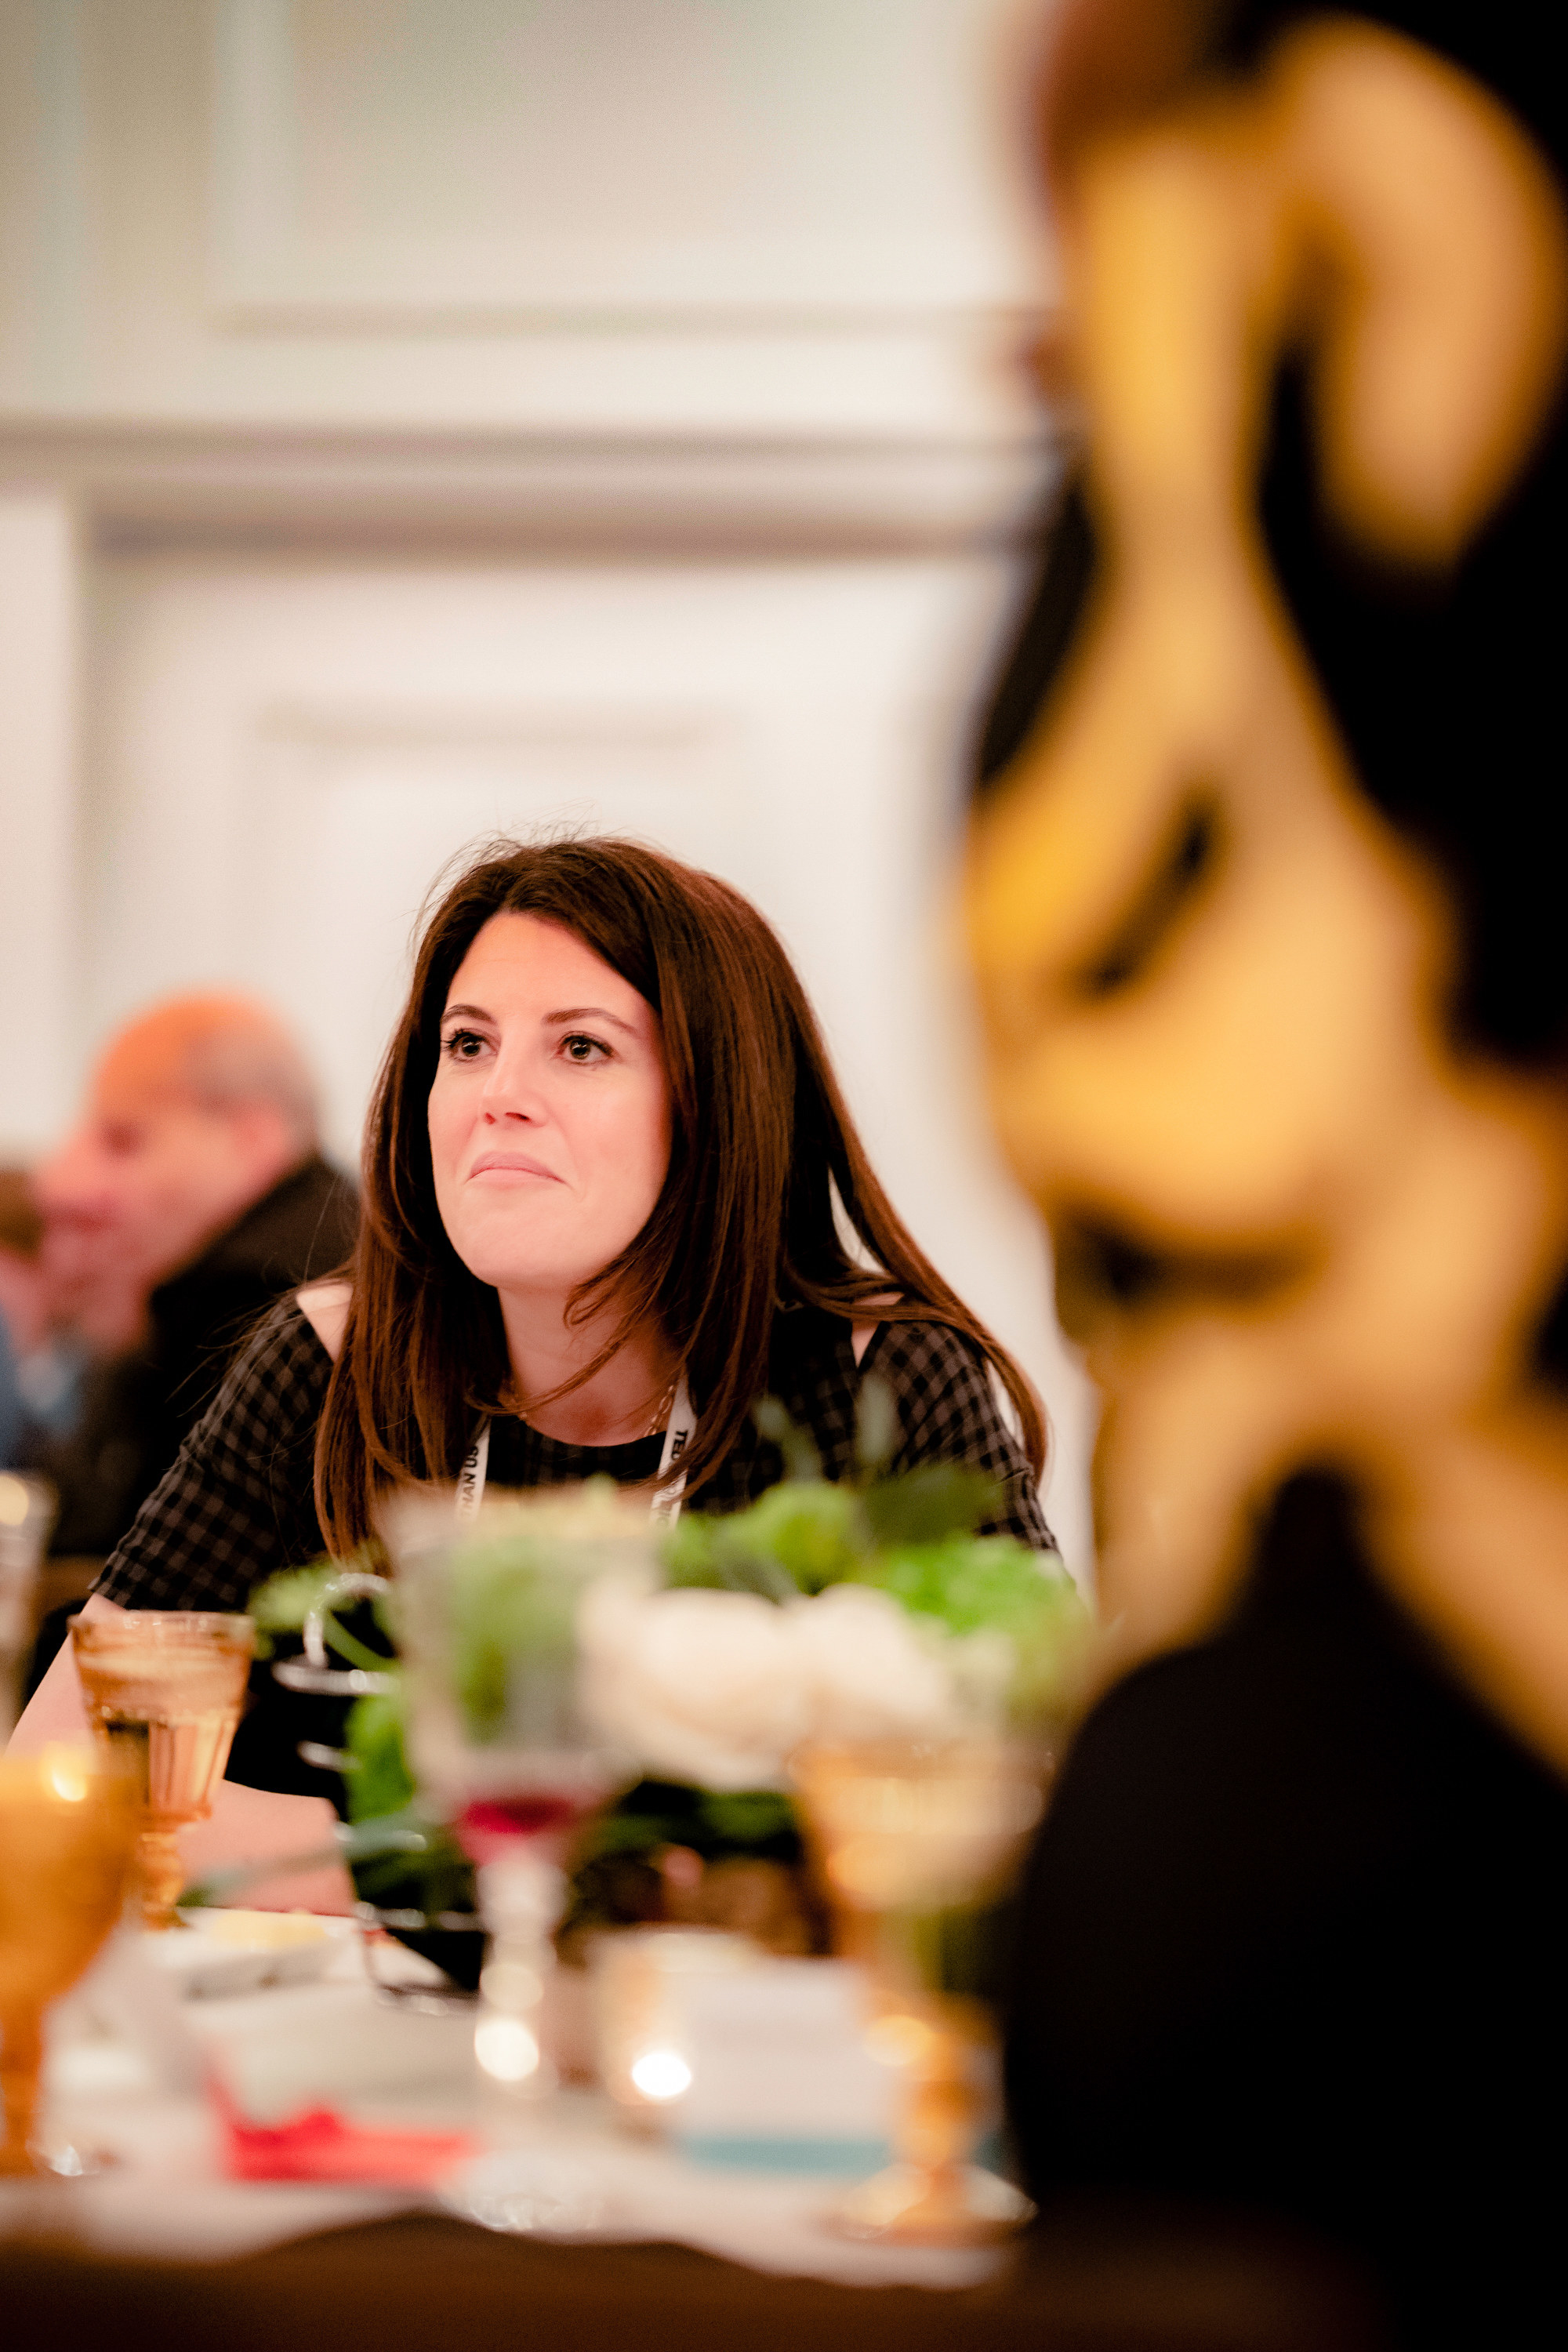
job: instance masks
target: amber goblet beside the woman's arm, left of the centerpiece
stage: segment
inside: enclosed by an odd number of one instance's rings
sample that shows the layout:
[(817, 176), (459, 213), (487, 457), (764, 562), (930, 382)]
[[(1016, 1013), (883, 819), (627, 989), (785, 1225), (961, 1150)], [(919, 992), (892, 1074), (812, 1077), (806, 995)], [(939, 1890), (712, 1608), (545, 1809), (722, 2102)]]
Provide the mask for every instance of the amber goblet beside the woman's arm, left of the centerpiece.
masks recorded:
[(256, 1628), (195, 1609), (73, 1618), (87, 1722), (141, 1792), (143, 1926), (174, 1926), (186, 1884), (179, 1832), (207, 1820), (244, 1705)]

